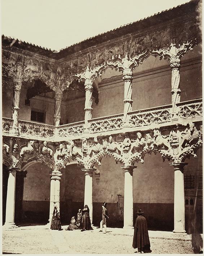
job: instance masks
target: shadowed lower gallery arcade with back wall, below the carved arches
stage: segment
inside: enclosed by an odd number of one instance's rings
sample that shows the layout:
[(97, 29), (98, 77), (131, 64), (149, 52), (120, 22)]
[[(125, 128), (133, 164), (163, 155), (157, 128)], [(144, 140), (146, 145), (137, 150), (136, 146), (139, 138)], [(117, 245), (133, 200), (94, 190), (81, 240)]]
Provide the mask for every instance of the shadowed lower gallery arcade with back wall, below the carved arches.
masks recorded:
[[(184, 167), (185, 229), (175, 223), (181, 218), (182, 205), (174, 217), (174, 201), (181, 200), (181, 191), (174, 186), (175, 168), (160, 153), (144, 157), (134, 169), (121, 168), (113, 157), (105, 156), (101, 166), (84, 172), (77, 162), (69, 162), (60, 175), (51, 176), (51, 168), (40, 161), (31, 161), (20, 169), (3, 165), (3, 225), (47, 224), (53, 202), (60, 205), (62, 224), (68, 224), (78, 209), (89, 203), (92, 224), (99, 226), (101, 204), (108, 203), (110, 227), (131, 227), (138, 208), (142, 208), (150, 230), (202, 232), (202, 149), (198, 158), (186, 159)], [(82, 171), (83, 170), (83, 171)], [(125, 175), (127, 175), (125, 177)], [(88, 179), (87, 179), (88, 178)], [(133, 186), (131, 186), (131, 183)], [(181, 186), (182, 187), (182, 186)], [(9, 188), (9, 193), (7, 194)], [(124, 191), (124, 188), (126, 191)], [(92, 195), (91, 195), (92, 190)], [(13, 192), (12, 192), (13, 191)], [(126, 195), (124, 194), (126, 193)], [(12, 194), (13, 193), (13, 194)], [(86, 198), (84, 194), (86, 193)], [(174, 198), (174, 194), (179, 194)], [(124, 197), (125, 195), (125, 197)], [(131, 197), (133, 195), (133, 198)], [(178, 202), (179, 203), (179, 202)], [(92, 204), (92, 207), (91, 207)], [(125, 209), (124, 209), (125, 205)], [(91, 210), (92, 208), (92, 210)], [(133, 216), (133, 218), (132, 218)], [(176, 230), (177, 229), (177, 230)]]

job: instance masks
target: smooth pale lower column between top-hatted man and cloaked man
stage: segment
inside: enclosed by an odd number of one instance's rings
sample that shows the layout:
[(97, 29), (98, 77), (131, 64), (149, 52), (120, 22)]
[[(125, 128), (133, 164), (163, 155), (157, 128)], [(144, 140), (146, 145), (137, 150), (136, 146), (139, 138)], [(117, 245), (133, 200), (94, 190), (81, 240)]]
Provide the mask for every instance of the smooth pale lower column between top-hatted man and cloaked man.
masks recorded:
[(133, 229), (133, 169), (136, 166), (121, 166), (121, 168), (125, 171), (123, 229)]

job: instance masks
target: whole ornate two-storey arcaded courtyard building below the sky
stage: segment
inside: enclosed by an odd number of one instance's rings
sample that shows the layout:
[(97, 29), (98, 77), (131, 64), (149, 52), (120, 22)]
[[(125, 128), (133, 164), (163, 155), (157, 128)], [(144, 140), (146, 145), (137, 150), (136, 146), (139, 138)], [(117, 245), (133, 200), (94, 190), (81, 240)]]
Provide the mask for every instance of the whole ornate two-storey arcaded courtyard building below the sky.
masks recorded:
[(54, 204), (65, 219), (87, 204), (97, 225), (107, 201), (110, 225), (132, 227), (143, 206), (152, 227), (162, 207), (161, 229), (190, 229), (202, 201), (199, 5), (60, 52), (2, 36), (6, 227), (36, 212), (48, 221)]

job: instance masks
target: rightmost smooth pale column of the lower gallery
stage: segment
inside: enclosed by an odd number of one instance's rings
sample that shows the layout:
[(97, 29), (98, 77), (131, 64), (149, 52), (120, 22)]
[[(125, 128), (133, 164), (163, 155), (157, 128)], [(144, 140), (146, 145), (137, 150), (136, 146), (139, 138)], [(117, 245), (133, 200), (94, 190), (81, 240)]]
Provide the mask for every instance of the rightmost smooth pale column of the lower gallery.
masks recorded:
[(172, 163), (174, 166), (174, 230), (185, 233), (185, 194), (183, 168), (187, 163)]

